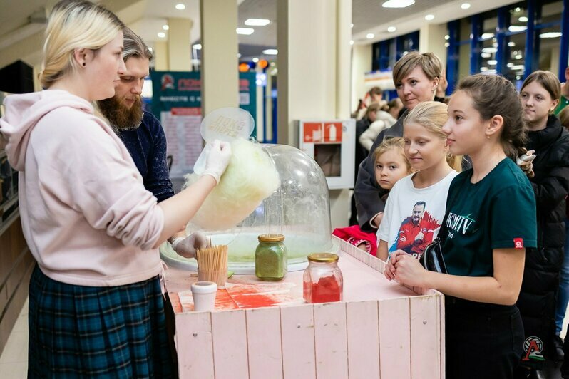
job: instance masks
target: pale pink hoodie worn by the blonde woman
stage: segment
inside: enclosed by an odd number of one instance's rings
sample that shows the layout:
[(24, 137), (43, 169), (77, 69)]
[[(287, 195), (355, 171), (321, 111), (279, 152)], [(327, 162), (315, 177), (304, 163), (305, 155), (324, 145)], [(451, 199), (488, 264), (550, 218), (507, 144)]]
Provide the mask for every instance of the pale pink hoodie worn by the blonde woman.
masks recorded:
[(83, 286), (118, 286), (160, 274), (164, 214), (128, 150), (63, 90), (11, 95), (0, 133), (19, 171), (22, 229), (41, 271)]

